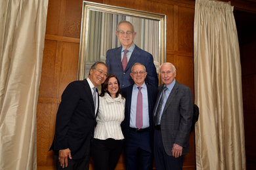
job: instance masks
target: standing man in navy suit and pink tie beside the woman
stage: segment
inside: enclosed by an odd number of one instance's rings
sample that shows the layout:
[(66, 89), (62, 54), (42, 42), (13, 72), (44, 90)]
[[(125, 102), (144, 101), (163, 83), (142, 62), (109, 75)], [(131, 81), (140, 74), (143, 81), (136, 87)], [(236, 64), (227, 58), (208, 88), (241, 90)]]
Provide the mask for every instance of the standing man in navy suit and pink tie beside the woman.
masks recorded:
[(153, 109), (158, 89), (145, 84), (146, 68), (135, 63), (131, 69), (135, 84), (122, 88), (125, 97), (125, 120), (121, 123), (125, 137), (125, 169), (152, 169), (154, 124)]

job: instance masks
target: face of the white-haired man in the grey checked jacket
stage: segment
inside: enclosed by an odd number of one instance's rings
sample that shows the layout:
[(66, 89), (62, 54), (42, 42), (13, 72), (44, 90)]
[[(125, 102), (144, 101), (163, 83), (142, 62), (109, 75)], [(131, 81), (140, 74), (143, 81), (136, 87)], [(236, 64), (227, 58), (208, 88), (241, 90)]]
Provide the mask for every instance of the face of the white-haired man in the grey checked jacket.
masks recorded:
[(176, 71), (173, 69), (173, 65), (165, 63), (161, 66), (160, 77), (165, 86), (171, 84), (176, 76)]

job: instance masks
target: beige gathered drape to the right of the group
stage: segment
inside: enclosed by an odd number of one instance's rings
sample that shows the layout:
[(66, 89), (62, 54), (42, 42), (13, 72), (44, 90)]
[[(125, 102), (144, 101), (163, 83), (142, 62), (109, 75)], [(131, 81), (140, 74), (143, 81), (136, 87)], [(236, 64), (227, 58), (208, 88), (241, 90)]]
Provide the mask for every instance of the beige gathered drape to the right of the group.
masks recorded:
[(240, 52), (227, 3), (196, 0), (194, 80), (197, 169), (245, 169)]

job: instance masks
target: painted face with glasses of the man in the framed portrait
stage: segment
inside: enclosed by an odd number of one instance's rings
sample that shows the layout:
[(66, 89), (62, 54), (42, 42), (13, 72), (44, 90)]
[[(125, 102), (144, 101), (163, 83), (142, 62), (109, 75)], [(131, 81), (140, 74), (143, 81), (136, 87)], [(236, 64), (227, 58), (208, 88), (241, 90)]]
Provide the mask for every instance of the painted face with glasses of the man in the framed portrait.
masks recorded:
[[(127, 31), (131, 32), (132, 34), (128, 35)], [(121, 34), (120, 32), (125, 32), (125, 34)], [(136, 34), (136, 32), (133, 33), (133, 27), (131, 26), (131, 24), (127, 22), (121, 23), (116, 31), (117, 38), (125, 49), (128, 49), (130, 46), (133, 45), (133, 40), (135, 39)]]

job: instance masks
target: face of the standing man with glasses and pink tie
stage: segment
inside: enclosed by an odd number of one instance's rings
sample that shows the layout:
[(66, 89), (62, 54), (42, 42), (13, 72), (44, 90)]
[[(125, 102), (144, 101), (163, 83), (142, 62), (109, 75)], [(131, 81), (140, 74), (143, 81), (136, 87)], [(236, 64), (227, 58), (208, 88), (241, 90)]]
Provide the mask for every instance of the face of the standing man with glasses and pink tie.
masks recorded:
[(140, 64), (133, 66), (132, 73), (130, 73), (131, 78), (133, 78), (137, 86), (141, 86), (144, 83), (147, 74), (143, 65)]

